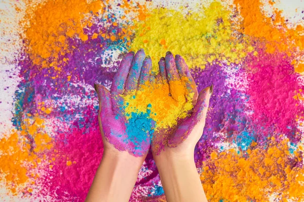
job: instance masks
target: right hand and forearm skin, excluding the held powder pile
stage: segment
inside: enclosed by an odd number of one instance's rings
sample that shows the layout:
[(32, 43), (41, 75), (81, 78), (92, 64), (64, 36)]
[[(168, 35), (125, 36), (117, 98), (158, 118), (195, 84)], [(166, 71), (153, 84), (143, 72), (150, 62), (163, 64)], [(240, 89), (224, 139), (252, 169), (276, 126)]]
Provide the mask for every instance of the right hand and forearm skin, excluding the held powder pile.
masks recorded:
[[(164, 67), (165, 65), (165, 67)], [(192, 102), (191, 115), (181, 120), (172, 130), (166, 130), (161, 137), (167, 145), (163, 150), (153, 149), (153, 157), (160, 173), (167, 201), (207, 201), (194, 161), (195, 145), (203, 134), (209, 99), (213, 86), (203, 89), (197, 95), (197, 88), (184, 60), (168, 52), (161, 58), (159, 68), (163, 83), (174, 79), (183, 80), (187, 88), (186, 102)], [(166, 74), (164, 72), (166, 70)], [(194, 93), (193, 96), (191, 93)], [(166, 134), (167, 133), (167, 134)], [(152, 141), (152, 147), (155, 141)]]

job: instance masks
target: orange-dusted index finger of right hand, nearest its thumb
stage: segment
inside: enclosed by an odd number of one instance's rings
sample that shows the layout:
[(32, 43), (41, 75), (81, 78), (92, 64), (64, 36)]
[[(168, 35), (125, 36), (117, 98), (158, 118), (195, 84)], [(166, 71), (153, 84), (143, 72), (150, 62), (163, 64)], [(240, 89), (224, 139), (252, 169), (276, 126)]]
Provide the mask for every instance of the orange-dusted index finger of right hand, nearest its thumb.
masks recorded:
[(192, 102), (192, 104), (195, 106), (199, 94), (195, 80), (193, 79), (187, 64), (185, 63), (184, 59), (181, 56), (179, 55), (175, 56), (175, 63), (178, 74), (183, 84), (186, 87), (186, 91), (185, 91), (186, 100), (187, 102)]

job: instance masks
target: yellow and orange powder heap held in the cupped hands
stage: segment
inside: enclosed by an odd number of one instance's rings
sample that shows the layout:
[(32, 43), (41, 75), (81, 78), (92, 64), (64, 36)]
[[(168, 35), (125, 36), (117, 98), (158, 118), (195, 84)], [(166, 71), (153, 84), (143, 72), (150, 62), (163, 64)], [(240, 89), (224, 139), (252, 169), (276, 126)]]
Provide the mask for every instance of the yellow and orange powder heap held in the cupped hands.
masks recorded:
[[(187, 90), (181, 80), (171, 81), (170, 90), (168, 84), (157, 84), (154, 87), (149, 85), (147, 81), (145, 85), (140, 86), (135, 97), (132, 92), (123, 95), (125, 103), (128, 103), (125, 113), (146, 113), (147, 106), (151, 105), (150, 118), (157, 123), (155, 130), (173, 127), (177, 124), (177, 118), (185, 118), (188, 111), (193, 108), (192, 100), (186, 102), (186, 93)], [(189, 94), (189, 96), (193, 97), (194, 93)], [(156, 99), (156, 97), (161, 99)]]

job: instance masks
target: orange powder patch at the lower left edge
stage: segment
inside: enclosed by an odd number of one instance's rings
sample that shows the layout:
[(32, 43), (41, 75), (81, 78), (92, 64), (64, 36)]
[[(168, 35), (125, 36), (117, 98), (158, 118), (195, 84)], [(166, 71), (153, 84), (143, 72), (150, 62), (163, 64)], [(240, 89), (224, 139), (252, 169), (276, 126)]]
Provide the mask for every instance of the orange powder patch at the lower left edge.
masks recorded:
[[(0, 172), (4, 176), (0, 180), (4, 180), (13, 194), (18, 194), (19, 186), (28, 181), (28, 172), (44, 160), (41, 154), (52, 147), (52, 138), (43, 128), (43, 120), (31, 116), (24, 119), (20, 131), (13, 130), (0, 140)], [(33, 140), (31, 144), (29, 136)]]

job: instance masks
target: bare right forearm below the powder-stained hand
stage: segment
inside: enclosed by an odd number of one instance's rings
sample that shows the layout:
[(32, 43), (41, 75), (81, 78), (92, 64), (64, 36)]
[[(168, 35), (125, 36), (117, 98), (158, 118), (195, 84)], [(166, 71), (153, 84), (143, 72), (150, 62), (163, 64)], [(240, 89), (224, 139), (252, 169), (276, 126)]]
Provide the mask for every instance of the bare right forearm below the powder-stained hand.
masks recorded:
[(194, 158), (156, 157), (167, 201), (207, 201)]

